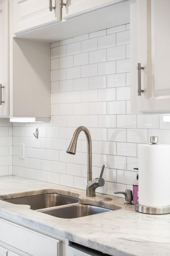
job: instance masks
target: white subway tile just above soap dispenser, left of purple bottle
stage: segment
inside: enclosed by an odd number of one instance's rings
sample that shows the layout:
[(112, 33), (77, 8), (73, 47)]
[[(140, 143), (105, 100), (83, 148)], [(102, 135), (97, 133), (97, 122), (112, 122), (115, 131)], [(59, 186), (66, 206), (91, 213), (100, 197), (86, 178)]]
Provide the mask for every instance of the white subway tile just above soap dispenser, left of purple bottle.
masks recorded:
[(137, 174), (134, 171), (117, 170), (117, 183), (133, 185), (136, 176)]

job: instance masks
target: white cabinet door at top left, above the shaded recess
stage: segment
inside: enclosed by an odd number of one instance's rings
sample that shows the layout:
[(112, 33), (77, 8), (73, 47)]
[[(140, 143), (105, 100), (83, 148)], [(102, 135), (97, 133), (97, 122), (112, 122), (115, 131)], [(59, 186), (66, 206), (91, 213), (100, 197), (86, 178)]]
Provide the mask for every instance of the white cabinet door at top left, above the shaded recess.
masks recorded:
[(61, 20), (59, 0), (52, 0), (52, 11), (49, 0), (11, 0), (10, 4), (14, 10), (14, 34)]

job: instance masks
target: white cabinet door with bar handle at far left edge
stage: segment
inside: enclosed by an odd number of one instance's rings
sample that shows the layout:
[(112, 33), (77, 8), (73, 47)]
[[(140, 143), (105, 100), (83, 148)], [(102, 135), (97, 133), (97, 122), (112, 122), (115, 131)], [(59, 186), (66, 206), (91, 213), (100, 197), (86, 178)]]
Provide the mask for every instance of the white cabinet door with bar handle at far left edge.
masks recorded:
[(8, 115), (9, 98), (8, 98), (8, 16), (7, 1), (0, 3), (0, 116)]

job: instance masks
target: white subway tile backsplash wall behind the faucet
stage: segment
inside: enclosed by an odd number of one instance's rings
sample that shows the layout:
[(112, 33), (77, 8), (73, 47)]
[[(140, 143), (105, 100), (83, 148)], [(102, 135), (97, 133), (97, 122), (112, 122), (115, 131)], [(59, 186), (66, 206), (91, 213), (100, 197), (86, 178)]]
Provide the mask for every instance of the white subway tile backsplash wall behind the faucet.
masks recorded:
[[(157, 135), (170, 143), (170, 124), (162, 116), (130, 115), (129, 29), (126, 24), (51, 43), (51, 121), (13, 123), (14, 175), (86, 189), (83, 132), (76, 155), (66, 153), (74, 130), (84, 125), (92, 137), (93, 178), (105, 165), (105, 185), (96, 191), (113, 195), (132, 189), (137, 143)], [(24, 159), (19, 143), (25, 144)]]

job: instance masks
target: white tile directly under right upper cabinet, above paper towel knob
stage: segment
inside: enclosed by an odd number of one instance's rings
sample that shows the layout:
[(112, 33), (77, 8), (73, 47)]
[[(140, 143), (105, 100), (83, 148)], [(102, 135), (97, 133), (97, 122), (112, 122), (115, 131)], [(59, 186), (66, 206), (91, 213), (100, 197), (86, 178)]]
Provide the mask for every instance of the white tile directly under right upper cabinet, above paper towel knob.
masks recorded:
[(137, 128), (159, 129), (159, 115), (138, 115)]

